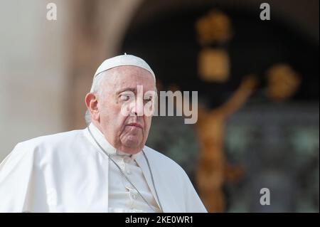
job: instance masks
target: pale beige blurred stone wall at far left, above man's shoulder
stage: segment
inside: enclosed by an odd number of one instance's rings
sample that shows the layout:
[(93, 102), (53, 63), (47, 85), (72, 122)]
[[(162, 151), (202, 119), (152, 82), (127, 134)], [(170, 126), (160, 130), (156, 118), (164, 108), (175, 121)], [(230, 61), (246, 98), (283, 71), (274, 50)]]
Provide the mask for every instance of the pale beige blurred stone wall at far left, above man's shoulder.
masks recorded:
[(1, 1), (0, 161), (18, 142), (67, 128), (71, 9), (54, 1), (58, 20), (48, 21), (49, 2)]

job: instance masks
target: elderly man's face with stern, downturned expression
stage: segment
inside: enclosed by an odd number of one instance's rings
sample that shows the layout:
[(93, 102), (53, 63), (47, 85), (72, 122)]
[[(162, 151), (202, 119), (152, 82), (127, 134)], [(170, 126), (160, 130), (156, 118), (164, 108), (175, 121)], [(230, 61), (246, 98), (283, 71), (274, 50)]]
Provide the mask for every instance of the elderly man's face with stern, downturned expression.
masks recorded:
[(105, 76), (92, 122), (116, 149), (135, 154), (149, 134), (151, 115), (145, 110), (154, 99), (148, 95), (156, 90), (154, 78), (147, 70), (131, 65), (112, 68)]

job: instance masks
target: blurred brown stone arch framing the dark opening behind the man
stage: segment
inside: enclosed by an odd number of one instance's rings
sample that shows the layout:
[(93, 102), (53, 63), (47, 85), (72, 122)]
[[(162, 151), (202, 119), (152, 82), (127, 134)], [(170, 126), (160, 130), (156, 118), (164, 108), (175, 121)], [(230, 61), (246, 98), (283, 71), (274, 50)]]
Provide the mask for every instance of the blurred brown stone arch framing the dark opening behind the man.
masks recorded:
[[(81, 0), (68, 1), (68, 4), (69, 9), (73, 9), (71, 12), (73, 14), (73, 32), (70, 33), (70, 39), (73, 41), (70, 52), (73, 57), (70, 63), (68, 82), (72, 95), (66, 104), (66, 108), (71, 110), (70, 116), (73, 116), (66, 119), (69, 129), (85, 125), (83, 99), (89, 90), (92, 75), (102, 60), (119, 52), (129, 26), (151, 20), (159, 14), (166, 14), (171, 9), (192, 9), (206, 4), (259, 9), (259, 4), (251, 0), (241, 1), (241, 3), (232, 0), (219, 0), (214, 3), (207, 0)], [(292, 7), (286, 7), (287, 3), (284, 1), (270, 1), (270, 4), (272, 10), (276, 11), (278, 15), (282, 15), (285, 21), (294, 21), (312, 41), (319, 41), (319, 29), (317, 29), (319, 28), (319, 20), (314, 21), (314, 16), (317, 14), (316, 7), (314, 7), (316, 2), (304, 3), (304, 7), (297, 7), (297, 4), (293, 4), (291, 1)], [(308, 9), (308, 16), (301, 13), (302, 9)]]

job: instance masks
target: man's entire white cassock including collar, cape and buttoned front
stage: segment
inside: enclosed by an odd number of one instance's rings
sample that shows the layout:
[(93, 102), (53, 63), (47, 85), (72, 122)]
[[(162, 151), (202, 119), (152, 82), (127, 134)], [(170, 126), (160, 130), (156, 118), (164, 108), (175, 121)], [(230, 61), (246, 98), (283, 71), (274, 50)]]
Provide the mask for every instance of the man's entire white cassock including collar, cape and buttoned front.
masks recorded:
[[(183, 169), (154, 149), (117, 152), (91, 124), (16, 145), (0, 164), (0, 212), (207, 212)], [(156, 193), (159, 196), (156, 196)]]

